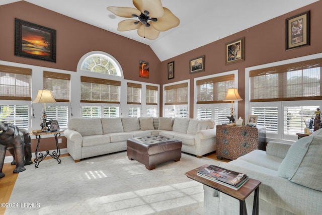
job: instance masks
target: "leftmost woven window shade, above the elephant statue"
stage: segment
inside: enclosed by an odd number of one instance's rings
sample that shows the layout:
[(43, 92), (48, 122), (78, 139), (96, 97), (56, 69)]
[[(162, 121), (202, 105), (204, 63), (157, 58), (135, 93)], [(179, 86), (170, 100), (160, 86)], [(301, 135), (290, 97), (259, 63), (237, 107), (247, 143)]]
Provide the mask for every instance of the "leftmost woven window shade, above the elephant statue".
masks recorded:
[(29, 68), (0, 65), (0, 100), (31, 101), (31, 74)]

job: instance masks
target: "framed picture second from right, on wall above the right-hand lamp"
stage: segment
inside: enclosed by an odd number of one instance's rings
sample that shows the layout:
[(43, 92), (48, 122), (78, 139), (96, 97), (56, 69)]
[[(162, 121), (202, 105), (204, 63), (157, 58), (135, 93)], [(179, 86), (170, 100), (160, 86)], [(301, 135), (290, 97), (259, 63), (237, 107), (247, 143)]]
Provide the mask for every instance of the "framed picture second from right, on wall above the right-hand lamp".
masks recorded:
[(245, 37), (225, 44), (225, 64), (245, 60)]

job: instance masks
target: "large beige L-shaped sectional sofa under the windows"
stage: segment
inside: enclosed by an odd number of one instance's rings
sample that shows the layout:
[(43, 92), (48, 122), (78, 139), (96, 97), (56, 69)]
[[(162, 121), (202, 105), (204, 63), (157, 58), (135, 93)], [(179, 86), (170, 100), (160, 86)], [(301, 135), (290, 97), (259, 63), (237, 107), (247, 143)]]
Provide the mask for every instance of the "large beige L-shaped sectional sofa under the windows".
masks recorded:
[(73, 118), (64, 131), (75, 162), (126, 150), (132, 137), (163, 135), (182, 140), (182, 152), (197, 157), (216, 150), (214, 121), (167, 117)]

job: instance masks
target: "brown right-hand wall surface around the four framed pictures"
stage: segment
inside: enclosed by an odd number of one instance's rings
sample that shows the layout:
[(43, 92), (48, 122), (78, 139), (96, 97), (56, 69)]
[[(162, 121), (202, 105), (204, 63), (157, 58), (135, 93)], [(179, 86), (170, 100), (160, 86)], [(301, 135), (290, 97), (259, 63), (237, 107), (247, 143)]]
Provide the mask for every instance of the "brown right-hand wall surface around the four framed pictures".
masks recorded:
[[(193, 79), (196, 77), (238, 69), (238, 92), (241, 98), (245, 98), (245, 68), (322, 52), (322, 40), (320, 39), (320, 35), (322, 34), (321, 9), (322, 1), (318, 1), (291, 13), (163, 61), (161, 65), (162, 84), (190, 79), (190, 118), (193, 118)], [(306, 11), (310, 11), (310, 46), (286, 51), (285, 19)], [(245, 61), (225, 65), (225, 44), (241, 37), (245, 37)], [(201, 55), (205, 55), (205, 71), (190, 75), (189, 60)], [(175, 78), (168, 80), (168, 62), (171, 61), (175, 61)], [(162, 96), (160, 97), (162, 98)], [(244, 106), (245, 101), (238, 102), (238, 116), (241, 116), (243, 119), (245, 119)]]

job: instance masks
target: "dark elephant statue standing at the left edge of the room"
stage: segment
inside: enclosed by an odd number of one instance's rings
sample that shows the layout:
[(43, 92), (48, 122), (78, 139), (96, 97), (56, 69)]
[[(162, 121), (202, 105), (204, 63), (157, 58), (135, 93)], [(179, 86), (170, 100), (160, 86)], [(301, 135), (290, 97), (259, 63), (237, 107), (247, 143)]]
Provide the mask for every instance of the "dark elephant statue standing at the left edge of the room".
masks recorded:
[(16, 164), (14, 173), (25, 171), (25, 165), (32, 164), (31, 141), (27, 130), (19, 129), (15, 125), (0, 122), (0, 178), (5, 174), (2, 172), (6, 151), (14, 157), (12, 165)]

